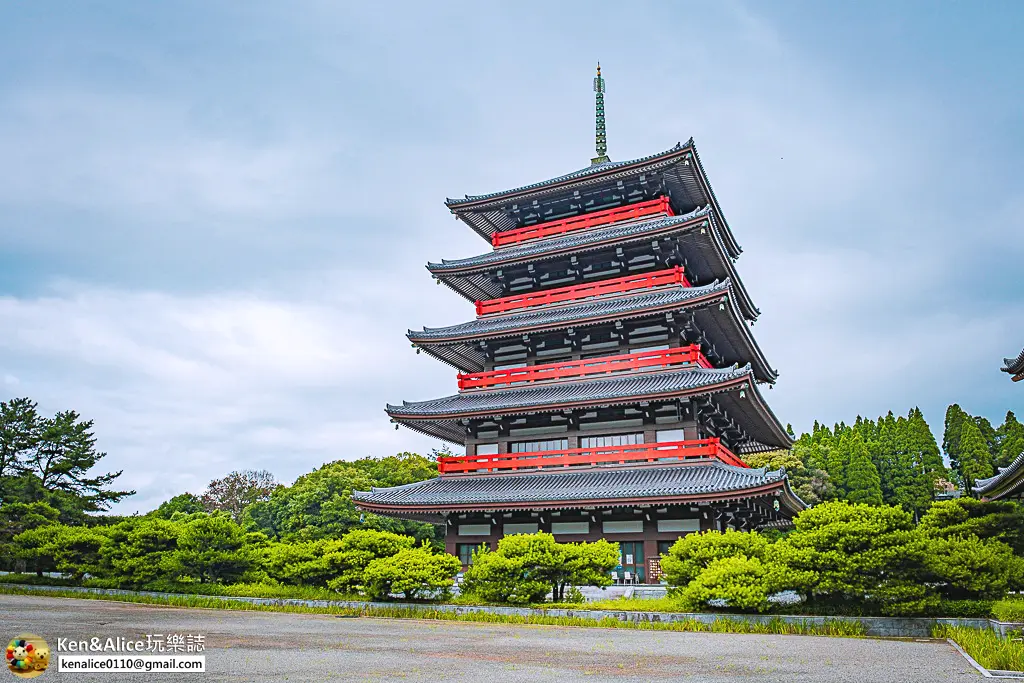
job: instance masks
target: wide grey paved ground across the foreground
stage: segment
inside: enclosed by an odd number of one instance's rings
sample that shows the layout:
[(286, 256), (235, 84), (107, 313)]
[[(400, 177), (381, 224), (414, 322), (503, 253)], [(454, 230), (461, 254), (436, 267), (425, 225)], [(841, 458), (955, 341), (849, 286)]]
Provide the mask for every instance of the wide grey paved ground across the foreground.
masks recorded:
[(936, 641), (337, 618), (13, 595), (0, 595), (0, 639), (36, 633), (54, 649), (57, 637), (206, 635), (206, 674), (59, 674), (54, 666), (43, 681), (981, 680), (950, 646)]

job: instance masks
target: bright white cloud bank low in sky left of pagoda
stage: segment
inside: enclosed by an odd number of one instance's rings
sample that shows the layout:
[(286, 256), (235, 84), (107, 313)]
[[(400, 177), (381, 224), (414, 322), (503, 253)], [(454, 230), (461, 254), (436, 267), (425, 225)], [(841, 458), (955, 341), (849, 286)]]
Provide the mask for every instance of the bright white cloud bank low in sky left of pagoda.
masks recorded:
[(418, 385), (420, 397), (425, 384), (454, 389), (454, 372), (420, 362), (391, 324), (415, 317), (415, 302), (394, 294), (294, 300), (66, 284), (0, 298), (0, 327), (13, 333), (0, 349), (26, 378), (19, 392), (95, 420), (103, 466), (140, 490), (122, 509), (144, 510), (231, 469), (291, 479), (330, 460), (439, 445), (396, 433), (383, 412)]

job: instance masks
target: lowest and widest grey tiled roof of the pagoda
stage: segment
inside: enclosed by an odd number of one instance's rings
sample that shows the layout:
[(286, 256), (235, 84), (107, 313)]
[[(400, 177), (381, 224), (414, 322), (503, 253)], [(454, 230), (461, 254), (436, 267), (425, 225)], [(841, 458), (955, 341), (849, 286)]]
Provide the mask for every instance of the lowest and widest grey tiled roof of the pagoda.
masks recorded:
[(353, 492), (355, 504), (379, 512), (565, 510), (777, 497), (793, 516), (807, 507), (784, 470), (742, 468), (715, 460), (674, 465), (588, 467), (569, 471), (454, 475), (404, 486)]

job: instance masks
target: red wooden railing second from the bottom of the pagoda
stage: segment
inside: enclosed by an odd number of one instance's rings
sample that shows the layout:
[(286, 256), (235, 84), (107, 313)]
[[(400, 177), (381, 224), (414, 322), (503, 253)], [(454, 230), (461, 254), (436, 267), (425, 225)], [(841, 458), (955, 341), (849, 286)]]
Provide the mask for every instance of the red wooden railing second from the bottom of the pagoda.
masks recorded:
[(596, 358), (586, 358), (584, 360), (566, 360), (564, 362), (548, 362), (540, 366), (490, 370), (482, 373), (459, 373), (459, 390), (489, 389), (509, 384), (593, 377), (595, 375), (613, 375), (650, 368), (664, 368), (666, 366), (712, 367), (705, 354), (700, 352), (700, 347), (696, 344), (690, 344), (689, 346), (644, 351), (642, 353), (623, 353), (621, 355), (606, 355)]

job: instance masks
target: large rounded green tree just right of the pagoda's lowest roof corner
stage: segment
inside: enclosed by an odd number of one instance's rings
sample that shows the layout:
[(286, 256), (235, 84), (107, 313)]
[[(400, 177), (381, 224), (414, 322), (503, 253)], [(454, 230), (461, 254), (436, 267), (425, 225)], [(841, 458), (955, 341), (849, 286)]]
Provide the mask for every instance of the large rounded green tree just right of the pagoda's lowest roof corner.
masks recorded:
[(794, 519), (771, 559), (800, 577), (818, 599), (866, 601), (885, 613), (921, 610), (927, 539), (913, 518), (890, 506), (823, 503)]

